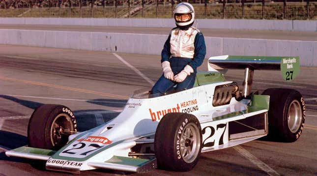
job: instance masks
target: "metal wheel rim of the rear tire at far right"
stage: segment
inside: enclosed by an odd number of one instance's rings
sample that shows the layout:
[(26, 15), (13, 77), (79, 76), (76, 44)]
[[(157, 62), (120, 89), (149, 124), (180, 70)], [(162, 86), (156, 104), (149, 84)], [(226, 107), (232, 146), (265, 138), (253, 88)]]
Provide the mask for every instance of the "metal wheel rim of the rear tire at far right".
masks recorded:
[(292, 133), (295, 133), (302, 122), (302, 109), (299, 101), (294, 100), (288, 108), (288, 128)]

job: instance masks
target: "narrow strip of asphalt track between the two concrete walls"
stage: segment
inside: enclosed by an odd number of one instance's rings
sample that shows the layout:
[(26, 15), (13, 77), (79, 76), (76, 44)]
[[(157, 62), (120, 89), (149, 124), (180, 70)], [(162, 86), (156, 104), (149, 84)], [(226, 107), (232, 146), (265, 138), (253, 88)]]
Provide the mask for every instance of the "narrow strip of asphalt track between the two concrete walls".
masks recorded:
[[(61, 30), (61, 31), (89, 31), (89, 32), (118, 32), (118, 33), (146, 33), (168, 35), (170, 28), (132, 28), (132, 27), (100, 27), (100, 26), (59, 26), (59, 25), (4, 25), (0, 29), (24, 30)], [(317, 32), (279, 31), (279, 30), (231, 30), (231, 29), (201, 29), (204, 36), (257, 38), (317, 41)]]

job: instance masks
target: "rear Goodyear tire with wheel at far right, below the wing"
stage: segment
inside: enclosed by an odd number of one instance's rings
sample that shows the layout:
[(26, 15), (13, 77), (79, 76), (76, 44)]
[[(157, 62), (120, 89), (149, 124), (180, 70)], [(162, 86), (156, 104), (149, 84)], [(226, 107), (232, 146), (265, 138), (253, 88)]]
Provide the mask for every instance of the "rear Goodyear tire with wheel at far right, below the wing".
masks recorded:
[(302, 134), (306, 116), (302, 94), (288, 88), (269, 88), (262, 94), (270, 95), (267, 138), (282, 142), (296, 141)]

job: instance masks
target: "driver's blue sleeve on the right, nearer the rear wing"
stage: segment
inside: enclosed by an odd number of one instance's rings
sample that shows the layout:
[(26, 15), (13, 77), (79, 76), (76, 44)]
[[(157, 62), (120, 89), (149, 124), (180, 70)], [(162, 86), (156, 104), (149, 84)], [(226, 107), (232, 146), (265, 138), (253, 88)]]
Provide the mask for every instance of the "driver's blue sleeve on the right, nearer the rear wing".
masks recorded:
[(197, 67), (202, 65), (203, 59), (206, 56), (206, 45), (203, 38), (202, 32), (198, 32), (195, 36), (194, 41), (195, 54), (194, 59), (189, 63), (189, 65), (196, 70)]

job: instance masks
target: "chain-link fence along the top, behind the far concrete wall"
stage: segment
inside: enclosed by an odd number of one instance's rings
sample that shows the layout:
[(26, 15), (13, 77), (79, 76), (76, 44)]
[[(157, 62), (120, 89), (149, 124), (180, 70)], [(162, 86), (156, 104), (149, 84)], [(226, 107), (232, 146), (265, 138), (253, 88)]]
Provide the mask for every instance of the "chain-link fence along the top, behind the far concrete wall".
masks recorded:
[[(0, 17), (172, 18), (179, 0), (0, 0)], [(317, 20), (317, 0), (185, 0), (199, 19)]]

